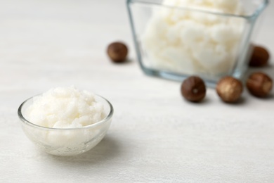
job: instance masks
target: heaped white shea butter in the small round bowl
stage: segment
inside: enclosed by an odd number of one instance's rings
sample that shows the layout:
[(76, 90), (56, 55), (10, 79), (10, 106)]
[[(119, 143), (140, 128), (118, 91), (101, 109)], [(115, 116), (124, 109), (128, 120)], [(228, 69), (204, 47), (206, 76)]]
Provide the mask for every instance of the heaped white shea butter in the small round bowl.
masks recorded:
[(103, 103), (96, 101), (94, 94), (74, 87), (58, 87), (35, 96), (25, 118), (43, 127), (76, 128), (103, 120), (103, 112)]

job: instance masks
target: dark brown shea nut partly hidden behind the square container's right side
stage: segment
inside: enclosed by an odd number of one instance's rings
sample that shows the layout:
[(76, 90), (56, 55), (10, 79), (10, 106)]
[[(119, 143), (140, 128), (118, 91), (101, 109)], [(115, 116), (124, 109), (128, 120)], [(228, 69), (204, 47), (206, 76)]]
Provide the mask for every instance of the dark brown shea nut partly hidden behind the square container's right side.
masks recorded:
[(254, 46), (252, 57), (249, 61), (251, 67), (263, 67), (268, 63), (269, 53), (266, 48), (262, 46)]

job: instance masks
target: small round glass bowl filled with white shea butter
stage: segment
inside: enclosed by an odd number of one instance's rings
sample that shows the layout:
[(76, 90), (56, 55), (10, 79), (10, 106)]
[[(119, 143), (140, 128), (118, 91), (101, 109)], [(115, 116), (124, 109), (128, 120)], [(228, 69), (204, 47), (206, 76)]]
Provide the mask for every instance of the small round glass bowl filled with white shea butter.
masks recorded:
[(58, 87), (23, 102), (22, 129), (40, 149), (72, 156), (96, 146), (110, 127), (113, 108), (101, 96), (74, 87)]

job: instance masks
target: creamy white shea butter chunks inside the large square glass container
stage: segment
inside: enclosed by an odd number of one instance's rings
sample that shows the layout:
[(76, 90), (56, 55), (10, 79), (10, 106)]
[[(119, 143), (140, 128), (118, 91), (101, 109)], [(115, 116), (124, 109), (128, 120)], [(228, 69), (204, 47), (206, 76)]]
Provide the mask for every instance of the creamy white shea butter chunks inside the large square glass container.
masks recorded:
[[(239, 0), (164, 0), (166, 6), (243, 15)], [(146, 65), (183, 74), (221, 75), (237, 59), (243, 18), (155, 7), (141, 37)]]

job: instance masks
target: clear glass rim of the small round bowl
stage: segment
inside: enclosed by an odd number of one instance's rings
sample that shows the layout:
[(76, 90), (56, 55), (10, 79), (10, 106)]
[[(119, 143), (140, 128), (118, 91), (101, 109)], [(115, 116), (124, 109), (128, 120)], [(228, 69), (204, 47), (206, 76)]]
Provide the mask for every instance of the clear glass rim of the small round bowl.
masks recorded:
[(27, 120), (24, 117), (24, 115), (22, 115), (22, 107), (25, 105), (25, 103), (27, 103), (28, 101), (34, 99), (34, 97), (41, 96), (41, 95), (42, 94), (37, 94), (35, 96), (32, 96), (32, 97), (30, 97), (29, 99), (23, 101), (20, 104), (20, 106), (18, 108), (18, 117), (20, 118), (21, 122), (24, 122), (26, 125), (30, 125), (32, 127), (38, 127), (38, 128), (44, 129), (44, 130), (83, 130), (83, 129), (89, 129), (89, 128), (97, 127), (98, 125), (101, 125), (102, 123), (105, 123), (105, 122), (109, 121), (112, 118), (112, 115), (114, 113), (114, 109), (113, 109), (113, 106), (110, 103), (110, 101), (105, 99), (103, 96), (100, 96), (98, 94), (94, 94), (94, 96), (98, 96), (100, 99), (105, 100), (107, 102), (107, 104), (110, 106), (110, 113), (108, 113), (107, 116), (105, 118), (103, 118), (103, 120), (100, 120), (96, 123), (93, 123), (91, 125), (86, 125), (86, 126), (83, 126), (83, 127), (72, 127), (72, 128), (69, 128), (69, 127), (65, 127), (65, 128), (44, 127), (44, 126), (37, 125), (37, 124), (34, 124), (34, 123), (30, 122), (29, 120)]

